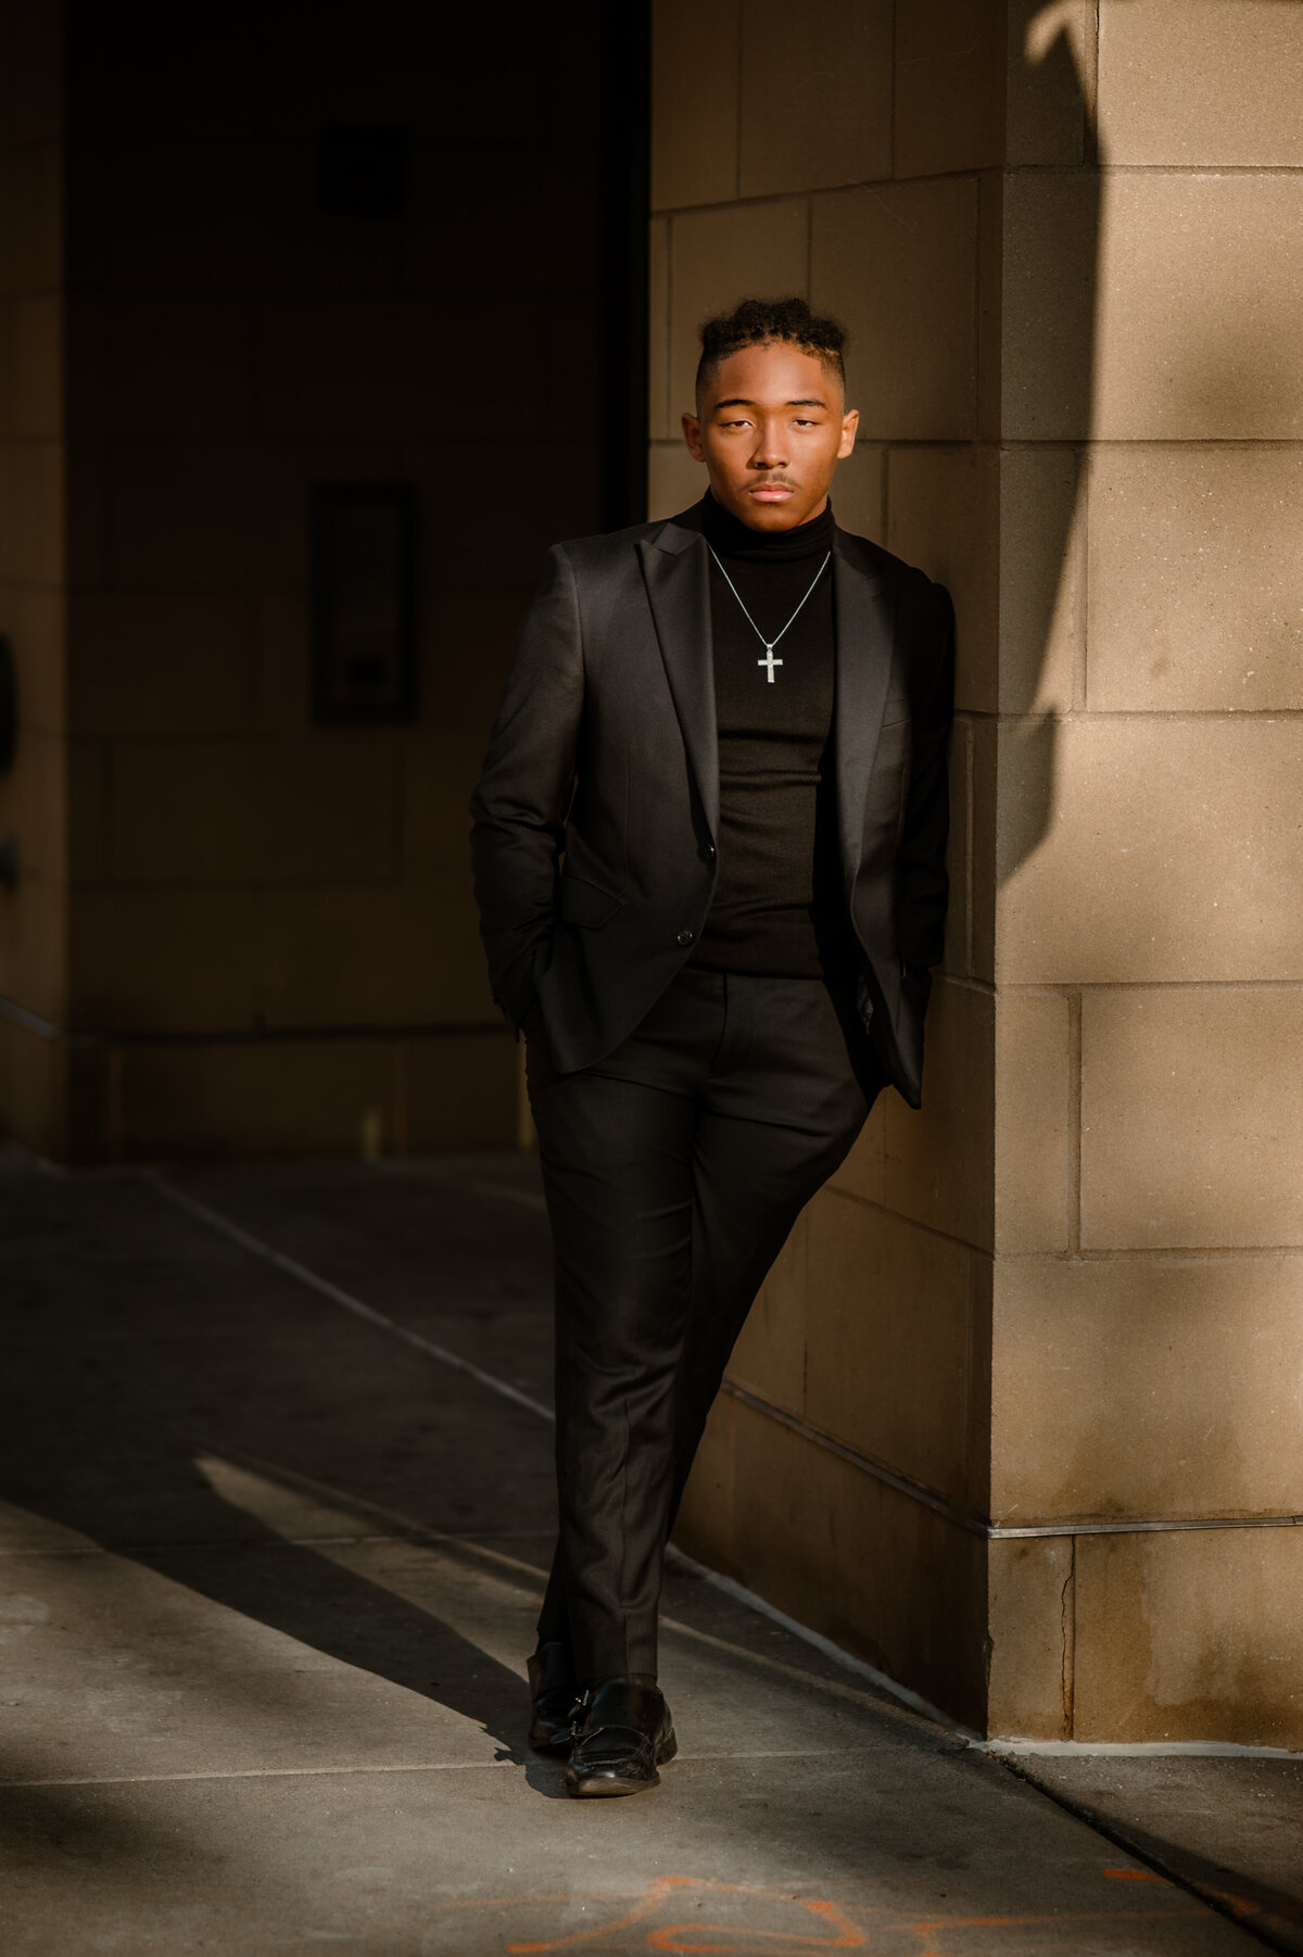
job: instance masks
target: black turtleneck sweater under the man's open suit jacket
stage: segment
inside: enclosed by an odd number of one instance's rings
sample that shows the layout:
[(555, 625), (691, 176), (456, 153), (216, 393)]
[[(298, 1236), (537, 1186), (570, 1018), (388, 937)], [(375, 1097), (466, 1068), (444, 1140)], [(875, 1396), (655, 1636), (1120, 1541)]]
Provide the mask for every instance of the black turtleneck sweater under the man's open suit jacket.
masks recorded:
[[(831, 507), (794, 530), (763, 532), (706, 491), (702, 530), (712, 550), (720, 861), (693, 959), (710, 971), (837, 977), (851, 969), (851, 949), (831, 777), (831, 562), (820, 573), (833, 542)], [(773, 648), (773, 679), (724, 571), (765, 640), (800, 605)]]

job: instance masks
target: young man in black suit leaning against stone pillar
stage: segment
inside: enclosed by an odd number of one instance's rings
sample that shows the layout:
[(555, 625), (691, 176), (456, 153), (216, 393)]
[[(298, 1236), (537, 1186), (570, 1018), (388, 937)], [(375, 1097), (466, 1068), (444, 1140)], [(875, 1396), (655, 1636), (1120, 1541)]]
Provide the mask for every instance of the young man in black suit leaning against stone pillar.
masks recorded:
[(556, 1249), (560, 1540), (530, 1744), (657, 1785), (665, 1540), (751, 1299), (884, 1084), (945, 916), (949, 595), (833, 523), (845, 335), (700, 333), (700, 503), (558, 544), (472, 802)]

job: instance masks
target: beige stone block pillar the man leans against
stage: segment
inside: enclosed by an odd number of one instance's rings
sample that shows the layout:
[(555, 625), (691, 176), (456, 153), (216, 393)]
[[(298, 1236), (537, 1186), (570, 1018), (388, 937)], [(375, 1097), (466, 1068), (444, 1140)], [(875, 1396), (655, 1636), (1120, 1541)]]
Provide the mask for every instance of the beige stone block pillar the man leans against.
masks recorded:
[(1303, 10), (775, 14), (696, 102), (655, 10), (653, 511), (696, 319), (839, 311), (839, 517), (959, 613), (955, 906), (685, 1542), (990, 1732), (1297, 1748)]

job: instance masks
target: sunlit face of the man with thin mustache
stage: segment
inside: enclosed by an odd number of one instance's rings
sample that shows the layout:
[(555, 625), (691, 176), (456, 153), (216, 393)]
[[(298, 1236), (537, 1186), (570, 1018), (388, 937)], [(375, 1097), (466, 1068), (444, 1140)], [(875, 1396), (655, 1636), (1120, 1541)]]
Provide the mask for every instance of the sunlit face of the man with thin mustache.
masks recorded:
[(835, 374), (781, 341), (722, 360), (683, 417), (683, 438), (706, 464), (716, 503), (753, 530), (794, 530), (828, 503), (857, 427)]

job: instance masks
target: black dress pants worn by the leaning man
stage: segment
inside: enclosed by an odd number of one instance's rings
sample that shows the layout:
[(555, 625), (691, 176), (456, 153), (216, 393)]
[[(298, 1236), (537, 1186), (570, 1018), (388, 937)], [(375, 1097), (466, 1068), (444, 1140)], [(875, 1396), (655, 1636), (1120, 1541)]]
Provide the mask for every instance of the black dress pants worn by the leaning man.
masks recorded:
[(845, 990), (685, 967), (605, 1061), (528, 1041), (556, 1251), (558, 1552), (540, 1640), (657, 1669), (665, 1540), (751, 1301), (882, 1084)]

